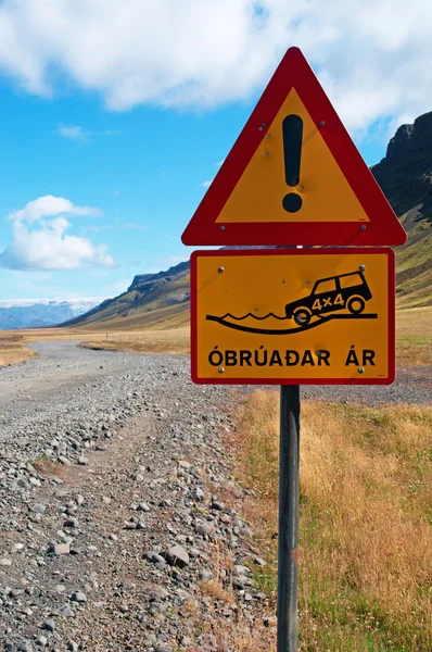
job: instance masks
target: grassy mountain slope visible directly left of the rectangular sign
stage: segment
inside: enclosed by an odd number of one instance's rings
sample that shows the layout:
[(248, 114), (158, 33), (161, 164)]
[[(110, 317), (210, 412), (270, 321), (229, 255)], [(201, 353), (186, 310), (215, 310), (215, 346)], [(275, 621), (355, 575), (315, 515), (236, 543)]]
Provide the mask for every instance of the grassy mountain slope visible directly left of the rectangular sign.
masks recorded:
[(189, 262), (136, 276), (126, 292), (62, 326), (167, 328), (189, 323)]

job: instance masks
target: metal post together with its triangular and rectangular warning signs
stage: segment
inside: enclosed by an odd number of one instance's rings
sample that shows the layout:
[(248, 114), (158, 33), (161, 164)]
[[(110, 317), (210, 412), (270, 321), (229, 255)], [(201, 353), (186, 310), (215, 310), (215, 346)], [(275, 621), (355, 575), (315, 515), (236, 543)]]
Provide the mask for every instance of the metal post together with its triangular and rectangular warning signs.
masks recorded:
[(393, 383), (394, 252), (365, 246), (406, 238), (290, 48), (181, 237), (282, 248), (191, 256), (192, 380), (281, 386), (278, 652), (297, 652), (300, 385)]

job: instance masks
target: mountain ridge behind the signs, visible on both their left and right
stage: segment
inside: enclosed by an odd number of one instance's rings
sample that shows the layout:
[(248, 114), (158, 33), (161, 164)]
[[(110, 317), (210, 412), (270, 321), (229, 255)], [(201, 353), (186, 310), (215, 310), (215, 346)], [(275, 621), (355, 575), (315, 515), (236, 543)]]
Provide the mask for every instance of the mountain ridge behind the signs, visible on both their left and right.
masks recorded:
[[(396, 248), (397, 304), (432, 305), (432, 112), (402, 125), (371, 172), (409, 236)], [(126, 292), (65, 326), (166, 328), (188, 322), (189, 262), (185, 262), (167, 272), (136, 276)]]

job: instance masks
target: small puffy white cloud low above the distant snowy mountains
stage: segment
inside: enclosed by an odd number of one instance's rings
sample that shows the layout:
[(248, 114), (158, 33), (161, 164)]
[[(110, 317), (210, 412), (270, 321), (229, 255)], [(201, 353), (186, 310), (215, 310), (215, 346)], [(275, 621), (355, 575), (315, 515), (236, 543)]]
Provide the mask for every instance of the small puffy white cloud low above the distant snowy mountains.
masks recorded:
[(66, 233), (72, 224), (60, 213), (96, 215), (100, 211), (76, 206), (61, 197), (39, 197), (30, 201), (9, 215), (13, 222), (12, 242), (0, 253), (0, 266), (26, 271), (112, 267), (114, 261), (106, 247)]

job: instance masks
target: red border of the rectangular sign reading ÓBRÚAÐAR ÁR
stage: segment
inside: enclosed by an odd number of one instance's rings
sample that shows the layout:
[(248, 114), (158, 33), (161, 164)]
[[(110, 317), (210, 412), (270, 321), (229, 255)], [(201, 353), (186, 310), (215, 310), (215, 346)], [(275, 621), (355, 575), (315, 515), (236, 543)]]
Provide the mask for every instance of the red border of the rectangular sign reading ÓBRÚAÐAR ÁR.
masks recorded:
[[(358, 254), (385, 253), (389, 269), (389, 334), (387, 354), (389, 374), (385, 378), (200, 378), (198, 375), (198, 276), (196, 263), (199, 258), (217, 258), (220, 255), (319, 255), (319, 254)], [(250, 250), (216, 250), (194, 251), (191, 254), (191, 377), (196, 385), (391, 385), (395, 379), (395, 253), (387, 247), (357, 248), (317, 248), (317, 249), (250, 249)]]

